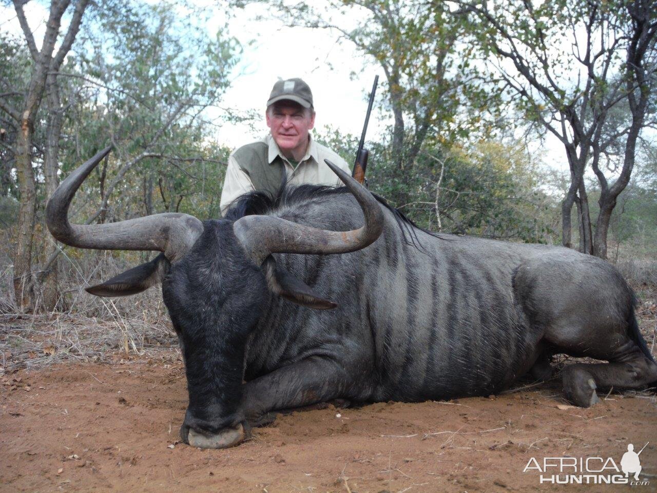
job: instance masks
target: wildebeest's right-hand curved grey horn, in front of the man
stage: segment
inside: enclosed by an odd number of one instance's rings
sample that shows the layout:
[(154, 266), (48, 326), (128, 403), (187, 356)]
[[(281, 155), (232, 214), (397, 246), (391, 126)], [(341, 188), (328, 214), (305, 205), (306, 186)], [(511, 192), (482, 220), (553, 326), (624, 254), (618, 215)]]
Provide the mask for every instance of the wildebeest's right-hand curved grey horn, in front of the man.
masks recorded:
[(272, 253), (329, 254), (355, 252), (373, 243), (383, 231), (383, 212), (373, 195), (328, 159), (363, 209), (365, 224), (352, 231), (327, 231), (272, 216), (244, 216), (233, 231), (256, 264)]

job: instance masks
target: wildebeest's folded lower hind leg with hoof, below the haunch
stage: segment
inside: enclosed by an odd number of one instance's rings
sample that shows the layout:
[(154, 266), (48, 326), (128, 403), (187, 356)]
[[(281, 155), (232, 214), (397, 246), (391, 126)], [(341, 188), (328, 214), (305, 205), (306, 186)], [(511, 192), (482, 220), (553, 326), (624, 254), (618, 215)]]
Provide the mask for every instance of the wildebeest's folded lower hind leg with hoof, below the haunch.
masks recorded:
[(598, 402), (596, 388), (642, 388), (657, 381), (657, 364), (633, 342), (614, 352), (610, 363), (569, 365), (562, 371), (566, 398), (588, 408)]

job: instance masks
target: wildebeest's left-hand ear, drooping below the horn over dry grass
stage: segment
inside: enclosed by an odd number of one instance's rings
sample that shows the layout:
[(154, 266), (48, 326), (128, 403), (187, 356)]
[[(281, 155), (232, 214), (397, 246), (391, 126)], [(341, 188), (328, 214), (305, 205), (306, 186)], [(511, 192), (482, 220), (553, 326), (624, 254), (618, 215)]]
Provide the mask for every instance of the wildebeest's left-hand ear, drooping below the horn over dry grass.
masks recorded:
[(168, 266), (169, 261), (161, 253), (150, 262), (133, 267), (102, 284), (88, 287), (85, 291), (96, 296), (129, 296), (141, 293), (162, 282)]

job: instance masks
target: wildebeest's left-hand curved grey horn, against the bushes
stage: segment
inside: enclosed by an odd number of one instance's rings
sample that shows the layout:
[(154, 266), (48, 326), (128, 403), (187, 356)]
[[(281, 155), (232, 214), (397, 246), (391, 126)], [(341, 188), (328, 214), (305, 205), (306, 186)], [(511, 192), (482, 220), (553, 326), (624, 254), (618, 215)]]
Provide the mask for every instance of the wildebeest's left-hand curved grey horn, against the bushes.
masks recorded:
[(68, 207), (81, 183), (110, 147), (93, 156), (57, 187), (46, 206), (46, 223), (52, 235), (71, 247), (98, 250), (158, 250), (170, 262), (181, 258), (203, 231), (202, 223), (188, 214), (166, 213), (106, 224), (71, 224)]

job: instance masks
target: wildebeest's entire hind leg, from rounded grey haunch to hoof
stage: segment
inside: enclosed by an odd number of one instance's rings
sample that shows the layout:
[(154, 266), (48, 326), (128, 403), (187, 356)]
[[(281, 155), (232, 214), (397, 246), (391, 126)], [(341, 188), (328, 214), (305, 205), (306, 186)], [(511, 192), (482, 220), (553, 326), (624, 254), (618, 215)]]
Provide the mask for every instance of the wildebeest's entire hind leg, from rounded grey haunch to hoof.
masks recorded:
[(514, 289), (555, 352), (609, 362), (574, 364), (562, 371), (564, 392), (573, 404), (592, 406), (597, 388), (641, 388), (657, 381), (657, 364), (639, 332), (632, 290), (606, 262), (535, 258), (518, 268)]

